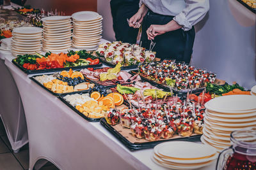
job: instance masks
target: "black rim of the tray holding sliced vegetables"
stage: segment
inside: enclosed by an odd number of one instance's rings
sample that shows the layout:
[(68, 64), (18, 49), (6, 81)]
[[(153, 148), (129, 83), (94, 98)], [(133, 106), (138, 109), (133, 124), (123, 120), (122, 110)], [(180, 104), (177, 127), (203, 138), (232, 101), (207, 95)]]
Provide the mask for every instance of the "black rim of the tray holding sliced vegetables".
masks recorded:
[(21, 71), (23, 71), (26, 74), (37, 74), (37, 73), (51, 73), (51, 72), (58, 72), (58, 71), (63, 71), (63, 70), (68, 70), (68, 69), (84, 69), (84, 68), (88, 68), (88, 67), (100, 67), (102, 66), (102, 63), (100, 62), (99, 64), (95, 64), (95, 65), (88, 65), (88, 66), (76, 66), (76, 67), (63, 67), (63, 68), (56, 68), (56, 69), (37, 69), (37, 70), (29, 70), (29, 69), (25, 69), (24, 67), (20, 66), (15, 59), (12, 60), (13, 64), (15, 64), (15, 66), (19, 67), (19, 69), (21, 69)]

